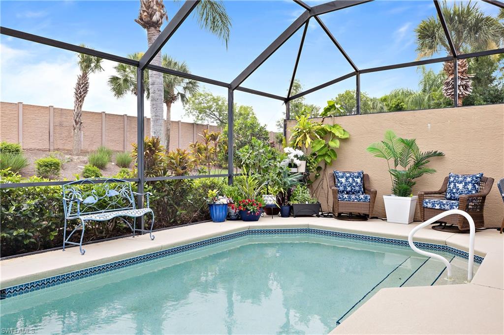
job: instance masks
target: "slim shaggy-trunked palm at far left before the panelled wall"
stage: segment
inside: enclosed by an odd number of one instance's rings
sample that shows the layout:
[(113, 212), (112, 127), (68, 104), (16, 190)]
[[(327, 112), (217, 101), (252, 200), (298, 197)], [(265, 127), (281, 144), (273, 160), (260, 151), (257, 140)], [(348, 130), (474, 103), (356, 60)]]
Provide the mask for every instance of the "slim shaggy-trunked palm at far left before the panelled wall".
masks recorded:
[[(86, 47), (84, 44), (80, 46)], [(89, 92), (89, 75), (103, 71), (103, 67), (101, 67), (102, 58), (83, 53), (79, 53), (78, 57), (79, 60), (77, 63), (79, 64), (81, 73), (77, 76), (74, 90), (74, 155), (81, 153), (82, 106)]]

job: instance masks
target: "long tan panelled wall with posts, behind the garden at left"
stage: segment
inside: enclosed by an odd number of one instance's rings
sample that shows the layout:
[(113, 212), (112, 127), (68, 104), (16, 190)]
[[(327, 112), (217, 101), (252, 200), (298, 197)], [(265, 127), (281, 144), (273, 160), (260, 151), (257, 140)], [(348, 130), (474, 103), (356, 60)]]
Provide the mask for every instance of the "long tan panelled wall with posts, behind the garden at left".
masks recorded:
[[(82, 151), (100, 145), (114, 151), (131, 151), (137, 142), (135, 116), (106, 112), (82, 112)], [(150, 136), (150, 119), (145, 118), (145, 134)], [(0, 102), (0, 141), (20, 143), (25, 150), (72, 151), (73, 110), (53, 106)], [(204, 129), (221, 131), (217, 126), (171, 121), (170, 150), (187, 149), (201, 141)]]

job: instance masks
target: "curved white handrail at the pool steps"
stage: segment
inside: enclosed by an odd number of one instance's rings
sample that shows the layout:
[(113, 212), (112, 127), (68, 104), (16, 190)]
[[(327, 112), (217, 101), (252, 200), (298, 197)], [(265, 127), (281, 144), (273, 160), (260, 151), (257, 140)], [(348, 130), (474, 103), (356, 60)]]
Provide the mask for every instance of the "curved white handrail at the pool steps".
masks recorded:
[(440, 256), (440, 255), (437, 255), (437, 254), (433, 254), (433, 253), (426, 252), (424, 250), (420, 250), (413, 243), (413, 235), (418, 230), (422, 229), (425, 226), (428, 226), (431, 223), (434, 223), (435, 221), (437, 221), (445, 216), (452, 215), (452, 214), (460, 214), (460, 215), (464, 216), (467, 219), (467, 221), (469, 222), (469, 260), (467, 263), (467, 282), (470, 282), (473, 277), (474, 234), (476, 233), (476, 228), (474, 226), (474, 220), (472, 219), (471, 215), (469, 215), (467, 212), (464, 212), (463, 210), (460, 210), (460, 209), (451, 209), (451, 210), (448, 210), (448, 211), (443, 212), (441, 214), (437, 214), (436, 216), (428, 219), (427, 221), (425, 221), (425, 222), (419, 224), (418, 226), (416, 226), (415, 228), (413, 228), (408, 235), (408, 243), (411, 246), (411, 248), (415, 252), (417, 252), (418, 254), (432, 257), (432, 258), (435, 258), (436, 260), (443, 262), (446, 265), (446, 269), (448, 271), (448, 278), (447, 279), (452, 280), (452, 265), (450, 264), (450, 262), (448, 262), (448, 260), (446, 258), (444, 258), (443, 256)]

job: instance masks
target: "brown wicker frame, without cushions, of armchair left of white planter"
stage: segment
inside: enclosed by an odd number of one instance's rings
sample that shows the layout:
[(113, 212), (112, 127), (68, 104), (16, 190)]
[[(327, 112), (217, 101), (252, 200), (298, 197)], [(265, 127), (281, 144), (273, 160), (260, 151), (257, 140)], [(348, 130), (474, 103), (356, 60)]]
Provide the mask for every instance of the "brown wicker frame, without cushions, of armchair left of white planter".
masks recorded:
[(338, 200), (338, 188), (336, 187), (334, 173), (329, 173), (329, 188), (333, 194), (333, 214), (335, 217), (339, 216), (341, 213), (358, 213), (366, 214), (368, 217), (372, 216), (374, 202), (376, 200), (376, 190), (369, 189), (369, 175), (363, 174), (362, 182), (364, 194), (370, 197), (369, 202), (341, 201)]

